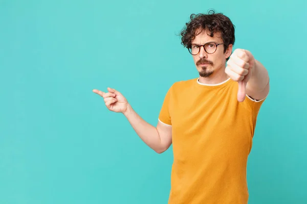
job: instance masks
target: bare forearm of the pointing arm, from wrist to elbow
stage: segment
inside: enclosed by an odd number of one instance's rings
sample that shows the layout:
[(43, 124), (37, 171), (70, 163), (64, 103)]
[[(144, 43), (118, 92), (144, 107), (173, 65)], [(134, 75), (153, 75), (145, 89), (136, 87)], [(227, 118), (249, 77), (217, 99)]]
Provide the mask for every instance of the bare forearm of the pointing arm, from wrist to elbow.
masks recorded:
[(161, 152), (163, 145), (157, 128), (143, 120), (130, 105), (123, 114), (143, 142), (153, 150)]

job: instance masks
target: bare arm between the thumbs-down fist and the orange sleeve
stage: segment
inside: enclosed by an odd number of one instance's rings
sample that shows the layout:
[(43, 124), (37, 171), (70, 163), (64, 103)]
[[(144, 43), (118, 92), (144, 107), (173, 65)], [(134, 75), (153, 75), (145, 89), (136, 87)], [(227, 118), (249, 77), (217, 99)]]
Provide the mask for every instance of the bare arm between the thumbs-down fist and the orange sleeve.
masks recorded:
[(265, 98), (270, 90), (270, 78), (267, 69), (257, 60), (246, 85), (246, 94), (253, 99)]

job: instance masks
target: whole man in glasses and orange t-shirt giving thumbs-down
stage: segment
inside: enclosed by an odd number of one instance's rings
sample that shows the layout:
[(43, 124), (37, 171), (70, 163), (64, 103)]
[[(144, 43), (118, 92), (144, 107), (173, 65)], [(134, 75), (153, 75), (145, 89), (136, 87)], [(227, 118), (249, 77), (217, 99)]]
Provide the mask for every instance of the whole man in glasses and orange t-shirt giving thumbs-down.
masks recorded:
[(220, 13), (191, 15), (181, 32), (199, 77), (174, 83), (157, 127), (144, 121), (117, 90), (93, 91), (123, 113), (139, 137), (162, 153), (173, 145), (168, 203), (247, 203), (247, 158), (269, 75), (246, 49), (236, 49), (234, 25)]

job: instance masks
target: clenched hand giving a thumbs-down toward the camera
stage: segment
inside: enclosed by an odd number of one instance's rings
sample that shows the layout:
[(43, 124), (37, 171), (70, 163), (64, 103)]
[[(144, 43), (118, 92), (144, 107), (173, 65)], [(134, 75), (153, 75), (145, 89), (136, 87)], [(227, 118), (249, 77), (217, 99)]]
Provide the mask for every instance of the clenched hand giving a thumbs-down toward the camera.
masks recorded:
[(244, 101), (246, 96), (246, 85), (255, 65), (254, 56), (246, 49), (235, 49), (227, 61), (225, 73), (239, 83), (237, 99)]

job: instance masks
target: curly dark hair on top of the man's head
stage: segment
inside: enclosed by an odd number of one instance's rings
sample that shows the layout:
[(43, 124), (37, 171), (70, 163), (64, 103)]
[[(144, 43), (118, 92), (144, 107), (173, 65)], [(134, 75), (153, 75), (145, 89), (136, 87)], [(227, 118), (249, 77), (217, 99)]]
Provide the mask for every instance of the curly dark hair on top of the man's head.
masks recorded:
[[(191, 47), (191, 42), (195, 38), (196, 30), (208, 30), (210, 37), (217, 32), (221, 32), (224, 42), (224, 52), (229, 44), (234, 44), (234, 25), (231, 20), (223, 13), (215, 13), (210, 10), (208, 14), (191, 14), (190, 21), (186, 23), (186, 27), (181, 31), (181, 44), (185, 47)], [(228, 60), (229, 58), (227, 58)]]

